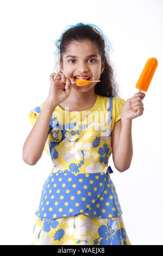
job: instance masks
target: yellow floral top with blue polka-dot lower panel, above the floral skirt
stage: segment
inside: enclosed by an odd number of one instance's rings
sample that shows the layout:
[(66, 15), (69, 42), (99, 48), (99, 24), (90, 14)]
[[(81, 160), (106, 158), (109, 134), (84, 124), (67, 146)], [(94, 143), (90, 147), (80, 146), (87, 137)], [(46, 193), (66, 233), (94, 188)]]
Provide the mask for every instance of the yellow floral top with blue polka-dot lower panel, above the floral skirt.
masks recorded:
[[(84, 215), (111, 218), (122, 215), (108, 160), (111, 132), (121, 119), (124, 100), (96, 94), (95, 105), (86, 111), (57, 106), (49, 123), (45, 151), (53, 162), (42, 188), (36, 215), (48, 220)], [(43, 103), (29, 114), (34, 125)]]

